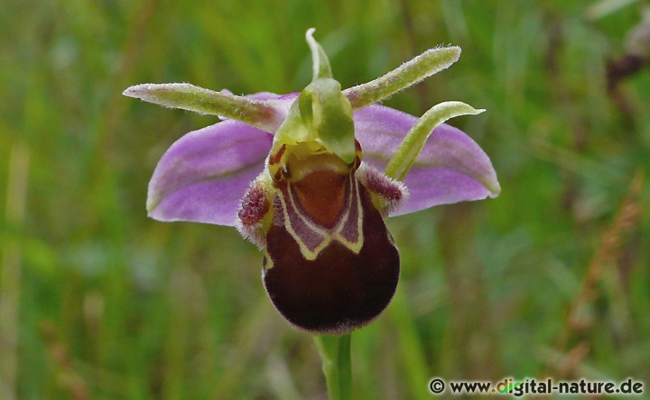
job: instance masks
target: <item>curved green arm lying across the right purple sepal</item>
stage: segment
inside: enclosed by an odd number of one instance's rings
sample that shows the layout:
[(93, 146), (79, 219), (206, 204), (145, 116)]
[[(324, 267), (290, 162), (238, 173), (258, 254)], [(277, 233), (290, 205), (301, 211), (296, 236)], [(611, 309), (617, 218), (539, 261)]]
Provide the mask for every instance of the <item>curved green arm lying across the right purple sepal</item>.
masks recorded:
[(413, 125), (411, 131), (406, 133), (404, 141), (400, 143), (395, 154), (388, 161), (385, 168), (385, 175), (397, 180), (404, 180), (404, 176), (411, 169), (415, 159), (420, 155), (433, 129), (445, 121), (459, 115), (476, 115), (485, 110), (476, 108), (461, 102), (445, 102), (434, 105), (429, 111), (424, 113), (417, 123)]

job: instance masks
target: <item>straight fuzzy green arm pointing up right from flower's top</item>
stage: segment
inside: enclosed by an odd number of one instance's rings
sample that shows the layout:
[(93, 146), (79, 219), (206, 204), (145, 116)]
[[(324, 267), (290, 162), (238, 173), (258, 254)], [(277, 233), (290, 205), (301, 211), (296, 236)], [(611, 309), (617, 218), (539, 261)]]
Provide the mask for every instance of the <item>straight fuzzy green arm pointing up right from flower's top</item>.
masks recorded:
[(460, 47), (458, 46), (426, 50), (383, 77), (377, 77), (365, 84), (344, 90), (343, 95), (348, 97), (352, 108), (358, 110), (375, 104), (389, 95), (394, 95), (400, 90), (420, 82), (425, 77), (431, 77), (442, 69), (449, 68), (459, 58)]

